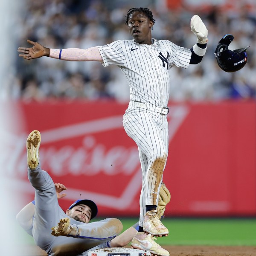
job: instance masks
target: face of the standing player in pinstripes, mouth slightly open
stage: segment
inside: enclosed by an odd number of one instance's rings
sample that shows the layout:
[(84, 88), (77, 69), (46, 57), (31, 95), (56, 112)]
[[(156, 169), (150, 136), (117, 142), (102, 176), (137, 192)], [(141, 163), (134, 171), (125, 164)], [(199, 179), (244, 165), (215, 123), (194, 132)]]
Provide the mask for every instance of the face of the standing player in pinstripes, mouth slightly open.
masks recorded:
[(152, 44), (152, 26), (153, 22), (143, 12), (133, 12), (128, 20), (129, 32), (138, 44)]

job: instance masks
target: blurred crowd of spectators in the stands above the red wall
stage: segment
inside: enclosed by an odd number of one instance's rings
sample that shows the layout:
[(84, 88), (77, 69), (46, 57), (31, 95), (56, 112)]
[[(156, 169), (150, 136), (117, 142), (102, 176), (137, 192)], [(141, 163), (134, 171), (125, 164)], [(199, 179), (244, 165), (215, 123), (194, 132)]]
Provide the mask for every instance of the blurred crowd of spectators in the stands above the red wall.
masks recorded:
[[(26, 0), (14, 28), (17, 47), (29, 47), (26, 39), (38, 41), (49, 48), (82, 48), (105, 45), (119, 39), (132, 39), (125, 25), (125, 15), (134, 5), (127, 1), (104, 0)], [(107, 4), (108, 3), (108, 4)], [(178, 9), (148, 1), (156, 20), (152, 35), (182, 47), (191, 48), (196, 37), (190, 31), (190, 19), (198, 14), (208, 28), (207, 54), (201, 64), (187, 70), (170, 70), (170, 100), (218, 101), (223, 99), (254, 99), (256, 97), (256, 11), (255, 6), (239, 8), (208, 6)], [(256, 5), (256, 4), (255, 4)], [(135, 6), (140, 7), (140, 6)], [(248, 62), (235, 73), (222, 71), (215, 60), (218, 41), (234, 35), (229, 49), (247, 49)], [(8, 74), (6, 98), (42, 101), (44, 99), (104, 99), (126, 102), (129, 87), (117, 67), (104, 68), (98, 62), (70, 62), (52, 58), (26, 61), (15, 57), (15, 68)]]

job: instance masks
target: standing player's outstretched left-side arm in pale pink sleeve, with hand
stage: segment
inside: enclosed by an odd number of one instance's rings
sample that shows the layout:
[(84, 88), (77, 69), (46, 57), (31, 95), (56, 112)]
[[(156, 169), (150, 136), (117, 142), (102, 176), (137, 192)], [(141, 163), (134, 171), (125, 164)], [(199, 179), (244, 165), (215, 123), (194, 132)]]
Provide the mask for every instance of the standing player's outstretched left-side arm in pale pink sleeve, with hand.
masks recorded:
[(26, 60), (41, 58), (43, 56), (57, 58), (65, 61), (100, 61), (102, 57), (99, 53), (98, 47), (91, 47), (88, 49), (68, 48), (68, 49), (49, 49), (37, 42), (27, 40), (33, 47), (19, 47), (18, 52), (20, 57)]

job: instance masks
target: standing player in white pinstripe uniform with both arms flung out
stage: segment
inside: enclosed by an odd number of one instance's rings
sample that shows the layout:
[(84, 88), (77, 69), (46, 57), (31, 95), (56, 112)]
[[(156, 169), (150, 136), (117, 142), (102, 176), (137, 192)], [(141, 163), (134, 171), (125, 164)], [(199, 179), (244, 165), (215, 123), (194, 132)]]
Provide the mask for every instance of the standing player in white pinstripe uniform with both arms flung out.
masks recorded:
[(186, 49), (167, 40), (152, 38), (155, 20), (147, 8), (132, 8), (126, 24), (133, 40), (119, 40), (88, 49), (49, 49), (28, 40), (32, 48), (19, 47), (19, 55), (30, 60), (48, 56), (66, 61), (99, 61), (104, 67), (116, 65), (127, 78), (130, 102), (123, 118), (126, 133), (139, 148), (142, 168), (139, 230), (132, 240), (135, 248), (160, 256), (169, 252), (152, 236), (167, 236), (169, 231), (157, 217), (157, 201), (168, 155), (169, 72), (172, 67), (187, 68), (201, 62), (207, 49), (208, 31), (194, 15), (190, 27), (197, 36), (195, 45)]

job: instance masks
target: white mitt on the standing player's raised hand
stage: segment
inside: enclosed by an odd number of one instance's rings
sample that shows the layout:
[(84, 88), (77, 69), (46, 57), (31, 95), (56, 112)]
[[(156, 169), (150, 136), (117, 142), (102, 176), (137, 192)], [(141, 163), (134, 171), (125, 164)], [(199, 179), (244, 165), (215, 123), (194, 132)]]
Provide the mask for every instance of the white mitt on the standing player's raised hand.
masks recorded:
[(206, 44), (208, 41), (208, 30), (198, 15), (194, 15), (190, 21), (191, 31), (197, 36), (198, 44)]

